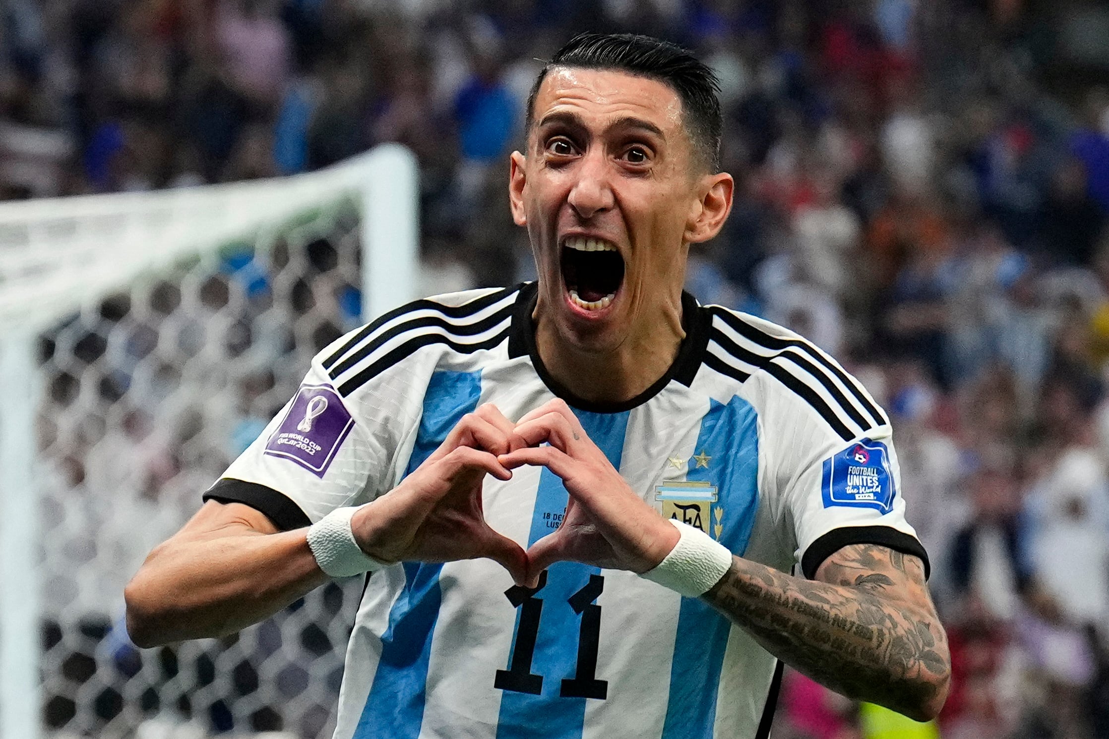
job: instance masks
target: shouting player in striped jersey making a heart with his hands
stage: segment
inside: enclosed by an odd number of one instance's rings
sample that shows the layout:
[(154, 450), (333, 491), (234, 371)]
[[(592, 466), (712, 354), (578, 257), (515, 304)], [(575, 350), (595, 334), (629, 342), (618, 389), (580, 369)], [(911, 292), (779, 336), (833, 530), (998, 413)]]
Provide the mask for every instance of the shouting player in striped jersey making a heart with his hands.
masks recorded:
[(712, 72), (581, 35), (527, 131), (538, 281), (323, 351), (129, 585), (135, 643), (373, 573), (339, 739), (766, 737), (782, 661), (934, 717), (949, 658), (888, 420), (804, 339), (682, 292), (732, 204)]

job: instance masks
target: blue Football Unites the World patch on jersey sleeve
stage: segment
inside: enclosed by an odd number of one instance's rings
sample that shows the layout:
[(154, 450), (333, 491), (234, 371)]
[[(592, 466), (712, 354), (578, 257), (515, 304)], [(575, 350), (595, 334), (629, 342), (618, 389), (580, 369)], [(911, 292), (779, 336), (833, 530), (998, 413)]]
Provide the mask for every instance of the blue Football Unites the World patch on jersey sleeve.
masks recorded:
[(889, 513), (897, 490), (886, 445), (863, 439), (824, 460), (821, 489), (826, 509), (844, 505)]

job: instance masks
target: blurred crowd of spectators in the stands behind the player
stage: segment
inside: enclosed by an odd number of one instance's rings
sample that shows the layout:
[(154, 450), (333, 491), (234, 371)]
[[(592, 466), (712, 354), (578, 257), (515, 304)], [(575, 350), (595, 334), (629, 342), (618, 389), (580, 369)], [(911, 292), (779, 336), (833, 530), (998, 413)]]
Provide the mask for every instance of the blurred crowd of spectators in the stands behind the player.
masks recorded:
[[(581, 30), (684, 43), (720, 75), (737, 183), (690, 289), (807, 336), (891, 412), (952, 642), (938, 731), (1101, 739), (1109, 69), (1060, 68), (1041, 4), (8, 0), (0, 199), (398, 141), (420, 163), (424, 291), (510, 284), (532, 267), (506, 154), (539, 60)], [(791, 739), (938, 736), (796, 675), (781, 717)]]

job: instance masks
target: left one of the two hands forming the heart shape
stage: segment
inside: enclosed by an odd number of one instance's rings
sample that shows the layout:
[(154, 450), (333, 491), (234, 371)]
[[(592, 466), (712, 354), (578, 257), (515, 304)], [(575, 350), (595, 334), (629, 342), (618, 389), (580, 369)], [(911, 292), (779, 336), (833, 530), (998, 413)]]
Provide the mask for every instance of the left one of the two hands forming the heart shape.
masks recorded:
[(381, 562), (454, 562), (489, 557), (517, 584), (527, 578), (519, 544), (485, 521), (481, 481), (509, 480), (497, 461), (523, 447), (513, 424), (491, 403), (462, 417), (442, 444), (394, 490), (363, 505), (350, 521), (355, 540)]

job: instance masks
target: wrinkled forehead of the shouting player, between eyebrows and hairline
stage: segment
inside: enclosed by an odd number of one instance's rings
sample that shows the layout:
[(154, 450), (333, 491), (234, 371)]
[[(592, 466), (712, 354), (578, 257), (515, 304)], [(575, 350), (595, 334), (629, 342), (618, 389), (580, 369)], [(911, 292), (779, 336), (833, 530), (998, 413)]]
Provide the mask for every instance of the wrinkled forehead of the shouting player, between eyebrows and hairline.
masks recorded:
[(682, 101), (664, 82), (618, 70), (557, 66), (536, 95), (533, 120), (550, 113), (576, 113), (587, 123), (637, 117), (671, 137), (682, 125)]

